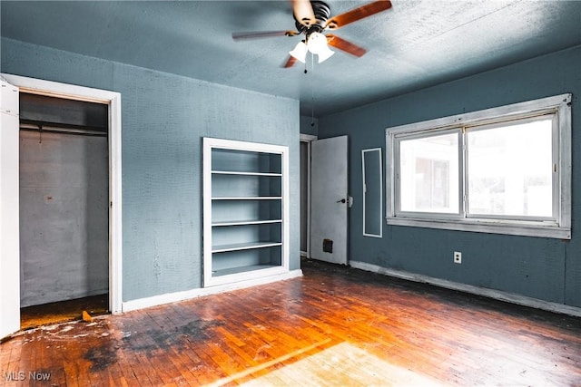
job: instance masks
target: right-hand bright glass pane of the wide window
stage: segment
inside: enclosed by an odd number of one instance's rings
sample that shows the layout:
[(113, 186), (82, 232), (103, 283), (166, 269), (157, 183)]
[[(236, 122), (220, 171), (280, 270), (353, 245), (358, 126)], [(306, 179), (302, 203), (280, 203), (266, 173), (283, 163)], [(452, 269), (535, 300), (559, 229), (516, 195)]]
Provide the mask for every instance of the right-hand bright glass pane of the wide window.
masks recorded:
[(468, 131), (468, 214), (553, 218), (550, 118)]

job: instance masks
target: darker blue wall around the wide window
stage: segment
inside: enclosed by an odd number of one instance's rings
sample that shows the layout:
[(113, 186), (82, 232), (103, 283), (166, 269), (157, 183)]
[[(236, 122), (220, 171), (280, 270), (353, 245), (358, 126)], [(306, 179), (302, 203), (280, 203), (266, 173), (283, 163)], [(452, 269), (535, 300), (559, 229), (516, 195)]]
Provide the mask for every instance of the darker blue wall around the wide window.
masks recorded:
[[(320, 117), (319, 138), (350, 136), (350, 194), (355, 198), (350, 212), (350, 259), (581, 307), (579, 69), (581, 46)], [(386, 128), (565, 92), (573, 93), (571, 240), (385, 224), (383, 238), (362, 236), (361, 150), (378, 146), (385, 150)], [(454, 251), (462, 252), (461, 265), (453, 263)]]

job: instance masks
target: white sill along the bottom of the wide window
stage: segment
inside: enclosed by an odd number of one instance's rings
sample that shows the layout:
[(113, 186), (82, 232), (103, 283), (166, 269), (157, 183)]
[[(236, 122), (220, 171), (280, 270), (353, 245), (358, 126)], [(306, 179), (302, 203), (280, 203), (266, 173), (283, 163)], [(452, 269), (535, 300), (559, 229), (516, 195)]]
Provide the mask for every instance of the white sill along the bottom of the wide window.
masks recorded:
[(456, 231), (481, 232), (488, 234), (518, 235), (524, 237), (552, 237), (571, 239), (570, 227), (533, 225), (513, 222), (493, 222), (486, 220), (438, 220), (418, 218), (387, 218), (389, 226), (438, 228)]

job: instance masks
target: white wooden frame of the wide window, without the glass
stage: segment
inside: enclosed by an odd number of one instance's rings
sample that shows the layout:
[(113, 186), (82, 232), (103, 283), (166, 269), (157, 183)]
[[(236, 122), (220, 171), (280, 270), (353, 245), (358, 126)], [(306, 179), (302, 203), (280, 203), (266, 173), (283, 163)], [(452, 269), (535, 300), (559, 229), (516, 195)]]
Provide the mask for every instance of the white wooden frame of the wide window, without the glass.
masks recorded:
[[(466, 131), (484, 125), (555, 114), (553, 153), (556, 175), (553, 180), (555, 219), (467, 217)], [(460, 135), (458, 214), (403, 212), (399, 210), (399, 140), (458, 132)], [(528, 237), (571, 239), (571, 94), (520, 102), (483, 111), (422, 121), (386, 129), (386, 220), (388, 225), (428, 227)]]

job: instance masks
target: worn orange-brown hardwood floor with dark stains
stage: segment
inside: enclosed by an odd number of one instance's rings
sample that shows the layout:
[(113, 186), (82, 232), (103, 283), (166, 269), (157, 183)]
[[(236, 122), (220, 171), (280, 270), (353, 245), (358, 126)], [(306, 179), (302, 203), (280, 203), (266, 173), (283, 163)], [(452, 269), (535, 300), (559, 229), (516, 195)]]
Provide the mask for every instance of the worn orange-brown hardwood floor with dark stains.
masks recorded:
[(579, 318), (344, 266), (303, 272), (16, 334), (0, 385), (581, 385)]

